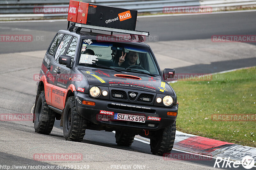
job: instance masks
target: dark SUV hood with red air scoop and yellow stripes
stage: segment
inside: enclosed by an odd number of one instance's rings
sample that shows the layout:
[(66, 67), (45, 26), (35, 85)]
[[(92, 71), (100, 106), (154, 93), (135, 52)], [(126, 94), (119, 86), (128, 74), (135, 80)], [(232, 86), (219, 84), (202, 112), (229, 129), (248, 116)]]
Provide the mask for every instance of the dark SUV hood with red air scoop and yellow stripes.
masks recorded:
[(115, 70), (91, 67), (79, 67), (79, 70), (86, 76), (90, 85), (144, 90), (173, 95), (170, 85), (161, 76), (152, 77), (147, 74), (116, 72)]

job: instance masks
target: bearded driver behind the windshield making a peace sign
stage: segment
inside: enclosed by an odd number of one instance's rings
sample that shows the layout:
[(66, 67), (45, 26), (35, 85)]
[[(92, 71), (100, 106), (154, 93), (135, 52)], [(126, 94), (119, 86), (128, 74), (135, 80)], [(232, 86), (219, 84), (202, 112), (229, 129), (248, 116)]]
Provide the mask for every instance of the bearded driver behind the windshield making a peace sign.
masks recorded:
[[(128, 59), (128, 62), (124, 62), (124, 58), (127, 54), (127, 59)], [(134, 65), (138, 65), (137, 64), (137, 59), (138, 59), (138, 53), (135, 52), (135, 51), (129, 51), (128, 53), (125, 53), (122, 52), (122, 56), (119, 58), (119, 62), (118, 62), (118, 66), (120, 67), (124, 67), (124, 68), (127, 68), (127, 67), (130, 67), (130, 66), (134, 66)]]

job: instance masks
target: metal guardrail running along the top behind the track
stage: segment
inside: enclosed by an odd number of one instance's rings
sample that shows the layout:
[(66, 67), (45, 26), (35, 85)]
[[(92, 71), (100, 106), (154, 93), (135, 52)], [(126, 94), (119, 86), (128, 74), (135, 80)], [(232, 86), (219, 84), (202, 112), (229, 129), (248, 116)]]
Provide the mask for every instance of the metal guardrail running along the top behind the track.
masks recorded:
[[(90, 0), (138, 12), (162, 13), (164, 7), (208, 6), (212, 11), (255, 7), (256, 0)], [(69, 0), (0, 0), (0, 20), (66, 18)]]

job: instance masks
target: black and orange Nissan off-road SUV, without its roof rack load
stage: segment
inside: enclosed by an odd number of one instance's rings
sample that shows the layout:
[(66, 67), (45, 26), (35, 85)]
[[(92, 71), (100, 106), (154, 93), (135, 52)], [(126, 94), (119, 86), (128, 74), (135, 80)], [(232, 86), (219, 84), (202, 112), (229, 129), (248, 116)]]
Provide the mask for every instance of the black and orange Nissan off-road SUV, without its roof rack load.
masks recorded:
[(178, 103), (165, 80), (174, 70), (162, 74), (151, 48), (131, 37), (74, 24), (58, 31), (36, 83), (35, 131), (51, 133), (56, 118), (66, 140), (82, 141), (86, 129), (116, 131), (117, 145), (131, 146), (140, 135), (153, 154), (171, 152)]

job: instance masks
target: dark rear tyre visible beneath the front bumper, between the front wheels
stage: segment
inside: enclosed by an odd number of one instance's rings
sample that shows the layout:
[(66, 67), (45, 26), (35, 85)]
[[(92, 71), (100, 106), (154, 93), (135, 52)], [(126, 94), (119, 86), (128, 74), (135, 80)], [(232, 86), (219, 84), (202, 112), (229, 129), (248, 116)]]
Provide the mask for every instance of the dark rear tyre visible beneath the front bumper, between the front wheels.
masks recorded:
[(116, 131), (115, 137), (116, 137), (117, 145), (131, 146), (135, 135), (125, 133), (125, 132), (121, 132), (121, 131)]

